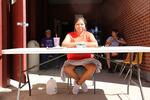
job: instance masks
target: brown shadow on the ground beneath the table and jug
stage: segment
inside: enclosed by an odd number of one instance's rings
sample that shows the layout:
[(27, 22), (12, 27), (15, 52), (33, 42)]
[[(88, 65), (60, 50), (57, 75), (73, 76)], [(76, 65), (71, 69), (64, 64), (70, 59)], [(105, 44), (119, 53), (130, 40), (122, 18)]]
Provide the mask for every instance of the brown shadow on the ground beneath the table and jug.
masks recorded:
[[(73, 95), (72, 87), (68, 88), (66, 83), (58, 83), (58, 93), (55, 95), (46, 94), (46, 84), (33, 85), (32, 95), (28, 91), (21, 91), (20, 100), (107, 100), (105, 93), (101, 89), (93, 93), (90, 89), (87, 93), (82, 91), (78, 95)], [(17, 90), (0, 95), (0, 100), (16, 100)]]

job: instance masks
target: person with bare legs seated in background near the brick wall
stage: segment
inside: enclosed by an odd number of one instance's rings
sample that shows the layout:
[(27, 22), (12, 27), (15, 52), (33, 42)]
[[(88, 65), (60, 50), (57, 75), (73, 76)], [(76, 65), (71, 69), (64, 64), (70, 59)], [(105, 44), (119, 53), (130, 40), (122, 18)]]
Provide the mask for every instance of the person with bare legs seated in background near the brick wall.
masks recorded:
[[(107, 38), (105, 46), (120, 46), (125, 45), (126, 41), (118, 36), (117, 30), (112, 30), (111, 36)], [(106, 53), (106, 59), (107, 59), (107, 66), (108, 66), (108, 72), (113, 72), (113, 68), (110, 65), (110, 59), (111, 57), (117, 57), (118, 53)]]

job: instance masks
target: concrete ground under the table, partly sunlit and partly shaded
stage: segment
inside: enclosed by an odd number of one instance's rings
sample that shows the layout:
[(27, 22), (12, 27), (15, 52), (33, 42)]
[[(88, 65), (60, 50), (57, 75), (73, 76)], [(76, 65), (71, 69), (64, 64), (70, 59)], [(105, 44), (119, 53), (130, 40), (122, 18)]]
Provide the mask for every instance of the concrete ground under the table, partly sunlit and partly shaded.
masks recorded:
[[(28, 95), (26, 85), (20, 94), (20, 100), (142, 100), (140, 89), (130, 86), (130, 94), (127, 95), (127, 80), (119, 77), (118, 73), (107, 73), (103, 71), (96, 74), (96, 94), (93, 94), (93, 82), (86, 81), (89, 91), (73, 95), (71, 88), (67, 88), (67, 82), (60, 79), (60, 69), (42, 70), (30, 73), (32, 84), (32, 95)], [(56, 95), (46, 94), (46, 82), (53, 77), (58, 84)], [(9, 89), (0, 89), (0, 100), (16, 100), (18, 82), (11, 80)], [(150, 100), (150, 83), (142, 80), (145, 100)]]

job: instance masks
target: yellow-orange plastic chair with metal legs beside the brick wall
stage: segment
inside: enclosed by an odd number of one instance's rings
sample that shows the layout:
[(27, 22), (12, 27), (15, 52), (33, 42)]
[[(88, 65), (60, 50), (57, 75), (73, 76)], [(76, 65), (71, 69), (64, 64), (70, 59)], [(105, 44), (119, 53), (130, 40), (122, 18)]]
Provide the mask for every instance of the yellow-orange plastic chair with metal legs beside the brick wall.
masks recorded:
[[(133, 69), (133, 67), (137, 67), (137, 65), (142, 64), (142, 58), (143, 58), (143, 53), (142, 53), (142, 52), (135, 54), (135, 59), (131, 62), (131, 63), (132, 63), (132, 69)], [(130, 62), (127, 62), (127, 64), (130, 64)], [(125, 68), (124, 68), (124, 69), (125, 69)], [(131, 69), (131, 70), (132, 70), (132, 69)], [(129, 72), (130, 72), (131, 70), (128, 69), (128, 71), (127, 71), (127, 73), (126, 73), (126, 75), (125, 75), (124, 80), (127, 78), (128, 74), (129, 74)], [(123, 71), (124, 71), (124, 70), (123, 70)]]

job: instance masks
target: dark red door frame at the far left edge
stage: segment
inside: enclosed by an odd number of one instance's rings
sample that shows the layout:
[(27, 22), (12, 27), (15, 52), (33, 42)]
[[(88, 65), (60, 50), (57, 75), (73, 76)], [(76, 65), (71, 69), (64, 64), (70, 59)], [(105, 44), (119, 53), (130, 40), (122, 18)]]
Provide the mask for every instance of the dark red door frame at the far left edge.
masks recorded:
[[(8, 33), (9, 33), (9, 26), (8, 26), (8, 7), (9, 2), (8, 0), (0, 0), (0, 52), (2, 49), (8, 48), (7, 41)], [(8, 59), (6, 55), (2, 55), (0, 57), (0, 87), (7, 87), (8, 80), (9, 80), (9, 73), (8, 73)]]

